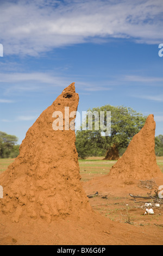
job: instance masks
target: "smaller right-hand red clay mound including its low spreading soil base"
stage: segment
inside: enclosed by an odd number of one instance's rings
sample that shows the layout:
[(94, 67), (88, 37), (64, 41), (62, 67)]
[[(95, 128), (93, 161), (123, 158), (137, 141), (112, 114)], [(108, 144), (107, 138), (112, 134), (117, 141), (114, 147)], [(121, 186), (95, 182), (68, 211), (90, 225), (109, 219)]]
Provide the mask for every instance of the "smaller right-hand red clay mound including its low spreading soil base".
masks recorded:
[(156, 182), (155, 188), (163, 185), (163, 174), (156, 163), (154, 148), (155, 121), (151, 114), (109, 174), (97, 177), (83, 185), (86, 193), (98, 191), (116, 196), (125, 193), (145, 193), (148, 189), (137, 186), (140, 180), (153, 179), (153, 182)]

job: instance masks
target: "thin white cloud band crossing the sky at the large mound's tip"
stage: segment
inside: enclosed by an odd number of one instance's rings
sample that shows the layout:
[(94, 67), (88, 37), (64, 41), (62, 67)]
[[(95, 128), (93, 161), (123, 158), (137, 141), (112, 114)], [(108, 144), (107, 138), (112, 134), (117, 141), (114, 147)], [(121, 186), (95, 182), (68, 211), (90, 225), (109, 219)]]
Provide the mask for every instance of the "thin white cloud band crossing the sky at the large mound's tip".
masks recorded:
[[(73, 78), (72, 78), (73, 77)], [(61, 88), (65, 88), (72, 82), (76, 83), (77, 90), (86, 92), (97, 92), (112, 90), (114, 87), (130, 86), (133, 82), (137, 82), (137, 86), (160, 86), (162, 87), (162, 77), (146, 77), (134, 75), (110, 76), (110, 79), (98, 80), (96, 82), (85, 82), (83, 77), (61, 74), (54, 72), (4, 72), (0, 73), (0, 88), (3, 89), (3, 95), (15, 95), (15, 93), (26, 92), (54, 92)], [(60, 89), (59, 89), (60, 90)], [(13, 94), (14, 93), (14, 94)], [(147, 100), (163, 101), (163, 95), (134, 95)], [(12, 103), (11, 100), (1, 100), (0, 103)]]

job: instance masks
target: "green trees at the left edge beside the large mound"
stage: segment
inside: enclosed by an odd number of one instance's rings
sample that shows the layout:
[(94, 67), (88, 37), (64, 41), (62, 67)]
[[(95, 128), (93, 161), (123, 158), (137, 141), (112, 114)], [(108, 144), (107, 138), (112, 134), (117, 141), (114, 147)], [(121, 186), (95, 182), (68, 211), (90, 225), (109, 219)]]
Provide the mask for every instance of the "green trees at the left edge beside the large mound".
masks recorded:
[(18, 138), (16, 136), (8, 135), (7, 133), (0, 131), (0, 158), (10, 157), (17, 141)]

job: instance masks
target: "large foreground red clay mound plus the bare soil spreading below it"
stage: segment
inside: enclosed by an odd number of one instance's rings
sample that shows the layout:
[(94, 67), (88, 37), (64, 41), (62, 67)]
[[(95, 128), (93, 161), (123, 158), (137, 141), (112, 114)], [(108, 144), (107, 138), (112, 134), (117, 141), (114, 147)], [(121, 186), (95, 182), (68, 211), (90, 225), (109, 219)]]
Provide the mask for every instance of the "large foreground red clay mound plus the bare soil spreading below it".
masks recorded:
[(76, 111), (78, 100), (72, 83), (28, 130), (20, 155), (0, 175), (0, 245), (161, 245), (158, 230), (145, 234), (91, 209), (75, 132), (52, 129), (53, 112)]

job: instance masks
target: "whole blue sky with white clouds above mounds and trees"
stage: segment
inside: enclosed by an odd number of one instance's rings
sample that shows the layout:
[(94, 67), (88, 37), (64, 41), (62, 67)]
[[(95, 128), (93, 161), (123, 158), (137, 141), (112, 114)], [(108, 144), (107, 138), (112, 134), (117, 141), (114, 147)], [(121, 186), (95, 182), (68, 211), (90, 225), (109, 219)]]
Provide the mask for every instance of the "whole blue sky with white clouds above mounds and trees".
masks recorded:
[(0, 1), (0, 130), (19, 143), (70, 83), (78, 111), (154, 114), (163, 134), (162, 0)]

